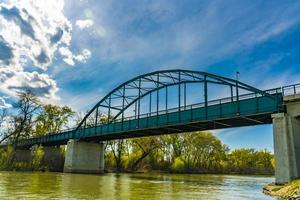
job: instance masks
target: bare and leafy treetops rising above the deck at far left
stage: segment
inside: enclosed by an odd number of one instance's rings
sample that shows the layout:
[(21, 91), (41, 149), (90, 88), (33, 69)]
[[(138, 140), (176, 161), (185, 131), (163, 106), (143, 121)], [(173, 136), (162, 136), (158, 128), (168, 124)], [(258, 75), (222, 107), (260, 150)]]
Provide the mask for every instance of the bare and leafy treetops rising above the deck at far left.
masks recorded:
[(55, 133), (64, 128), (74, 114), (67, 106), (43, 105), (30, 91), (19, 93), (18, 97), (13, 113), (0, 110), (0, 144), (6, 141), (15, 145), (22, 138)]

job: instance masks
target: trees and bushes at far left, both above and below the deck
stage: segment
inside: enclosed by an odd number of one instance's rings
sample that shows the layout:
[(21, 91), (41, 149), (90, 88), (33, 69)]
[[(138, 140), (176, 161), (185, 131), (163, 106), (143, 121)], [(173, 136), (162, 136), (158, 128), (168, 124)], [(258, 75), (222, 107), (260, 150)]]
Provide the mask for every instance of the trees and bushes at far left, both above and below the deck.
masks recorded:
[(33, 147), (30, 162), (19, 161), (16, 156), (17, 142), (23, 138), (61, 130), (69, 123), (74, 112), (67, 106), (43, 105), (30, 91), (19, 93), (18, 97), (12, 113), (0, 109), (0, 144), (12, 144), (7, 148), (0, 148), (0, 169), (43, 170), (43, 148)]

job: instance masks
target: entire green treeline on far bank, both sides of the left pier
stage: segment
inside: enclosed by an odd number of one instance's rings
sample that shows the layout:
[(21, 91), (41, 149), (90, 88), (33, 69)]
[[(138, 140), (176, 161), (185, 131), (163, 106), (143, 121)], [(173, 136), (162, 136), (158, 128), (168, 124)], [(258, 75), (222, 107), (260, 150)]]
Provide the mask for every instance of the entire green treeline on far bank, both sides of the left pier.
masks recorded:
[[(0, 113), (0, 169), (41, 170), (42, 147), (34, 151), (32, 163), (16, 161), (20, 139), (55, 133), (70, 121), (80, 121), (72, 109), (42, 104), (30, 92), (20, 93), (14, 111)], [(63, 149), (63, 148), (62, 148)], [(107, 171), (164, 171), (175, 173), (273, 174), (274, 158), (266, 151), (230, 149), (211, 132), (193, 132), (108, 141), (105, 145)]]

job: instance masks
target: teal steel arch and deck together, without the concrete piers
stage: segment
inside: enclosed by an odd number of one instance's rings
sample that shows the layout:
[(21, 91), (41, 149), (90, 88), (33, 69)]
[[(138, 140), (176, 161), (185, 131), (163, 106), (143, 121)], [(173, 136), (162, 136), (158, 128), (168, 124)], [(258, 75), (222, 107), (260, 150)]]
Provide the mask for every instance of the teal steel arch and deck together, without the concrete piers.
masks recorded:
[(282, 88), (263, 91), (200, 71), (155, 71), (113, 89), (75, 129), (23, 139), (18, 145), (59, 145), (69, 139), (105, 141), (268, 124), (272, 113), (284, 111), (282, 92)]

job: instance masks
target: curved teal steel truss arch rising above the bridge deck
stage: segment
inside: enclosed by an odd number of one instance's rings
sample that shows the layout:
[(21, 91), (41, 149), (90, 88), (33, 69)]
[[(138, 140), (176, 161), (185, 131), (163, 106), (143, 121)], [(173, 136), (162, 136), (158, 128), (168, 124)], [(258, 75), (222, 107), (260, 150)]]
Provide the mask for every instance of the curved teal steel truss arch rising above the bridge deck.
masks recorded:
[[(125, 111), (135, 104), (135, 117), (140, 117), (140, 100), (150, 94), (162, 89), (167, 89), (171, 86), (178, 85), (178, 108), (181, 109), (181, 86), (192, 83), (203, 84), (203, 106), (207, 106), (208, 101), (208, 85), (223, 85), (230, 88), (230, 95), (228, 96), (231, 101), (239, 101), (240, 90), (248, 91), (260, 96), (267, 96), (274, 98), (274, 96), (268, 94), (265, 91), (252, 87), (248, 84), (234, 80), (231, 78), (219, 76), (201, 71), (172, 69), (172, 70), (160, 70), (147, 74), (143, 74), (134, 77), (123, 84), (119, 85), (111, 92), (109, 92), (104, 98), (96, 103), (96, 105), (85, 115), (82, 121), (78, 124), (76, 130), (85, 128), (87, 126), (95, 126), (101, 123), (110, 123), (115, 120), (124, 120)], [(184, 94), (185, 96), (186, 94)], [(168, 92), (166, 92), (166, 97)], [(156, 102), (157, 113), (159, 112), (159, 102)], [(184, 105), (186, 106), (186, 105)], [(150, 105), (151, 107), (151, 105)], [(106, 111), (103, 111), (106, 110)], [(114, 114), (112, 114), (114, 113)], [(101, 116), (106, 115), (107, 120), (103, 121)], [(151, 108), (150, 108), (151, 114)]]

